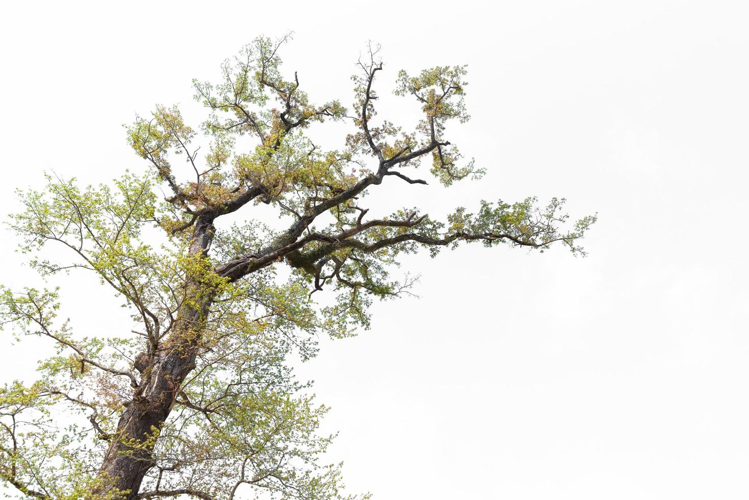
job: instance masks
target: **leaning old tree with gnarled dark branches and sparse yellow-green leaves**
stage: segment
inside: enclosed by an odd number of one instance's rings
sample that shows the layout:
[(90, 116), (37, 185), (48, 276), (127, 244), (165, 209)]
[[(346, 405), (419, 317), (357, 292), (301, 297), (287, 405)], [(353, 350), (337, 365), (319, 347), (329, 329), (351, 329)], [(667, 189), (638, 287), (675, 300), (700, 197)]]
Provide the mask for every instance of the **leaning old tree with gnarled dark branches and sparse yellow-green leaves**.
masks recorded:
[[(338, 101), (312, 104), (296, 73), (284, 79), (287, 40), (258, 38), (222, 65), (218, 85), (193, 82), (207, 110), (204, 155), (179, 109), (157, 106), (127, 129), (144, 173), (98, 187), (48, 176), (42, 191), (19, 192), (25, 210), (11, 227), (30, 266), (45, 278), (96, 273), (137, 324), (76, 335), (55, 317), (58, 289), (0, 290), (17, 337), (44, 336), (56, 348), (37, 382), (0, 392), (0, 478), (25, 496), (234, 499), (255, 488), (341, 498), (339, 466), (318, 464), (331, 439), (317, 433), (326, 409), (294, 379), (290, 356), (314, 356), (316, 334), (368, 327), (373, 299), (407, 293), (413, 279), (391, 276), (402, 254), (463, 242), (583, 252), (595, 216), (562, 231), (563, 199), (481, 201), (445, 222), (413, 207), (369, 216), (366, 195), (427, 183), (413, 173), (425, 156), (444, 186), (482, 174), (446, 140), (449, 121), (469, 118), (466, 69), (398, 73), (394, 94), (423, 112), (404, 132), (374, 122), (377, 48), (358, 63), (348, 112)], [(330, 121), (352, 126), (342, 150), (322, 150), (307, 134)], [(159, 186), (169, 194), (157, 195)], [(217, 227), (261, 204), (285, 227)], [(40, 256), (53, 245), (72, 260)], [(59, 411), (75, 418), (58, 421)]]

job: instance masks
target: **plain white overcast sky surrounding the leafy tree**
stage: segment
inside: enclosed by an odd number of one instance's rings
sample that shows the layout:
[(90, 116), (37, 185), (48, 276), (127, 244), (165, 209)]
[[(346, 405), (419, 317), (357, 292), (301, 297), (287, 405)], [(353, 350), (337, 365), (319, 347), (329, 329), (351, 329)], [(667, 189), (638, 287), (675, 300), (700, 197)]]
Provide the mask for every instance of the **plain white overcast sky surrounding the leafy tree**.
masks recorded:
[[(333, 406), (331, 460), (380, 500), (748, 498), (745, 2), (258, 4), (4, 4), (0, 213), (43, 171), (142, 168), (121, 124), (187, 106), (191, 79), (258, 34), (295, 31), (285, 70), (347, 106), (354, 61), (381, 43), (380, 117), (404, 126), (399, 69), (468, 64), (473, 120), (449, 138), (488, 175), (393, 197), (440, 214), (565, 196), (573, 216), (599, 213), (590, 256), (408, 260), (421, 299), (377, 305), (371, 331), (300, 371)], [(33, 282), (3, 232), (0, 281)], [(109, 290), (71, 281), (77, 331), (129, 329)], [(0, 380), (28, 376), (38, 345), (5, 337)]]

